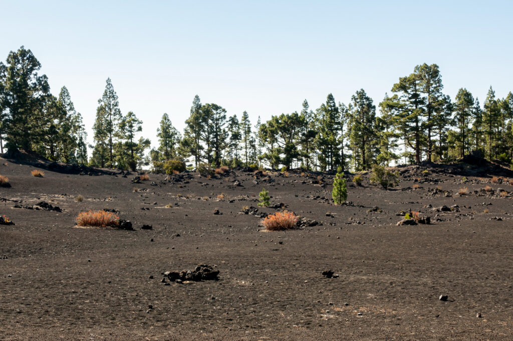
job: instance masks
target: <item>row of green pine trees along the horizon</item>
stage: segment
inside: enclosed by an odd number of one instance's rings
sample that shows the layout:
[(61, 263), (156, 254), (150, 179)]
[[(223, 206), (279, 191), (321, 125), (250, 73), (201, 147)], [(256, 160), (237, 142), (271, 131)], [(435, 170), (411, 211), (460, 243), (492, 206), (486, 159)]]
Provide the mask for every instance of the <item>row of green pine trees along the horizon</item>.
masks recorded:
[(439, 67), (419, 65), (400, 77), (377, 106), (361, 89), (347, 104), (331, 94), (311, 110), (260, 117), (255, 125), (247, 112), (228, 116), (214, 103), (192, 102), (181, 134), (167, 114), (162, 116), (159, 147), (138, 137), (142, 121), (123, 115), (110, 79), (98, 100), (93, 126), (92, 156), (87, 159), (86, 133), (65, 87), (50, 94), (47, 78), (30, 50), (11, 52), (0, 63), (0, 146), (35, 151), (62, 162), (100, 167), (163, 169), (168, 160), (190, 161), (194, 167), (302, 167), (320, 171), (369, 169), (372, 164), (450, 161), (470, 151), (488, 159), (511, 162), (513, 94), (497, 98), (490, 87), (483, 102), (466, 89), (452, 100), (443, 93)]

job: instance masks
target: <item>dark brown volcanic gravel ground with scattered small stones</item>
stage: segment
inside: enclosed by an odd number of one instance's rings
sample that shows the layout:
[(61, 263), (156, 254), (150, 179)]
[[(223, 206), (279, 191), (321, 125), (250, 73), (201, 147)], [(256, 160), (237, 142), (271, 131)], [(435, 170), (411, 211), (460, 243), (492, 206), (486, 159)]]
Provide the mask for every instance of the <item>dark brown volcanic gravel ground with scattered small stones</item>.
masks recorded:
[[(0, 162), (12, 185), (0, 187), (0, 215), (15, 223), (0, 225), (0, 339), (513, 339), (513, 186), (490, 182), (510, 175), (500, 167), (403, 167), (388, 191), (365, 175), (349, 184), (351, 204), (335, 206), (328, 175), (133, 184), (135, 174), (45, 164), (35, 178), (34, 166)], [(239, 214), (262, 187), (319, 225), (263, 231), (261, 218)], [(63, 211), (14, 208), (41, 201)], [(459, 207), (432, 210), (442, 205)], [(135, 230), (74, 226), (103, 208)], [(409, 209), (432, 224), (396, 226)], [(219, 280), (161, 282), (198, 264)]]

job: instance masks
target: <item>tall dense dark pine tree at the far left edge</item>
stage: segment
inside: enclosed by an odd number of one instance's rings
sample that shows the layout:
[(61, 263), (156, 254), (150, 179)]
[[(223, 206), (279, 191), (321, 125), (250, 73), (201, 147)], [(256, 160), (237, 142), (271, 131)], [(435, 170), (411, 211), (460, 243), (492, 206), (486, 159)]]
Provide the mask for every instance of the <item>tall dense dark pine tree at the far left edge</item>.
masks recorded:
[(0, 67), (5, 76), (2, 83), (2, 109), (7, 111), (3, 120), (7, 148), (14, 152), (19, 148), (31, 151), (41, 142), (47, 132), (49, 117), (45, 105), (51, 99), (50, 86), (46, 75), (38, 75), (41, 63), (30, 50), (23, 46), (9, 53), (6, 65)]

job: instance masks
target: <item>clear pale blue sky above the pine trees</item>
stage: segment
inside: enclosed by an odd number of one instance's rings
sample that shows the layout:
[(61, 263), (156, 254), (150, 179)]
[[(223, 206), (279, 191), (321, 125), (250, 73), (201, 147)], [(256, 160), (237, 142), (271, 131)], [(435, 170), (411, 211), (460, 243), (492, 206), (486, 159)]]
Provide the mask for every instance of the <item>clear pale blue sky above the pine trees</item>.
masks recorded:
[(68, 88), (89, 142), (107, 77), (153, 145), (164, 112), (183, 130), (196, 94), (254, 124), (328, 93), (347, 104), (363, 88), (378, 104), (424, 62), (452, 98), (513, 91), (510, 1), (0, 0), (0, 11), (0, 58), (31, 49), (52, 93)]

